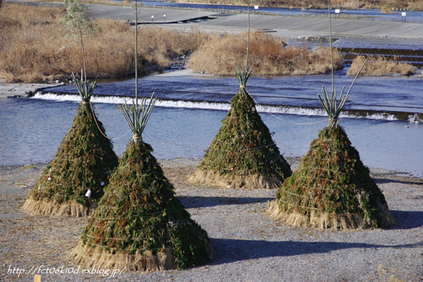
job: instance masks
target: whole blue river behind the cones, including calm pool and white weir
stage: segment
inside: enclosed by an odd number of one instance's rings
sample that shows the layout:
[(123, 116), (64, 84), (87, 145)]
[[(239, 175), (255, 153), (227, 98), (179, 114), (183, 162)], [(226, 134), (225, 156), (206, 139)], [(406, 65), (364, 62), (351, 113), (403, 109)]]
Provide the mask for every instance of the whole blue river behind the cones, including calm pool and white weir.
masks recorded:
[[(319, 106), (321, 85), (330, 87), (329, 75), (250, 78), (247, 89), (261, 104), (264, 123), (285, 156), (303, 156), (327, 118)], [(349, 87), (352, 78), (336, 75), (337, 87)], [(339, 85), (338, 85), (339, 83)], [(93, 105), (106, 134), (121, 155), (130, 140), (128, 125), (118, 104), (133, 95), (134, 79), (101, 83)], [(202, 157), (238, 90), (234, 78), (190, 75), (150, 75), (140, 79), (140, 94), (157, 92), (154, 109), (143, 137), (158, 159)], [(0, 100), (0, 165), (50, 161), (71, 127), (80, 98), (74, 86), (56, 87), (30, 99)], [(339, 90), (338, 90), (339, 92)], [(66, 94), (68, 93), (68, 94)], [(422, 113), (423, 83), (419, 78), (359, 78), (351, 92), (349, 109), (341, 118), (353, 146), (365, 165), (423, 176), (423, 123), (398, 121), (392, 111)], [(379, 112), (368, 113), (368, 109)], [(268, 114), (266, 111), (271, 111)], [(366, 118), (363, 118), (365, 113)], [(357, 114), (358, 113), (358, 114)], [(125, 133), (127, 133), (125, 135)], [(121, 137), (124, 135), (123, 137)]]

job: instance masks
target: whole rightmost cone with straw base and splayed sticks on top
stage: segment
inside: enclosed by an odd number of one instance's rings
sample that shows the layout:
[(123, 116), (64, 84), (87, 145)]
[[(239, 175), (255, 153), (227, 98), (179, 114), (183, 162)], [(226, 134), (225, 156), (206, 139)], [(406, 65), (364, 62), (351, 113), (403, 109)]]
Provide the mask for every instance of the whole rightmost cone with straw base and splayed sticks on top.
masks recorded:
[[(329, 1), (328, 10), (331, 28)], [(267, 211), (274, 219), (291, 226), (334, 230), (387, 228), (395, 223), (369, 168), (338, 126), (338, 116), (359, 73), (348, 92), (344, 95), (343, 87), (337, 99), (332, 71), (331, 94), (323, 87), (322, 97), (318, 95), (329, 125), (313, 140), (298, 170), (276, 192), (276, 200)]]

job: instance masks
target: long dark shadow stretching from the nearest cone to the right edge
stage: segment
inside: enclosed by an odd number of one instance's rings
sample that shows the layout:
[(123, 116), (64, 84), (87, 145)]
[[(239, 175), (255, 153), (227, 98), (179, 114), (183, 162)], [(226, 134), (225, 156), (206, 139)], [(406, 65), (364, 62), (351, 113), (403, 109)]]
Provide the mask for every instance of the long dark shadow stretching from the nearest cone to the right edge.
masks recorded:
[(216, 259), (212, 264), (226, 264), (248, 259), (266, 257), (288, 257), (294, 255), (321, 254), (335, 250), (360, 248), (377, 250), (380, 248), (422, 247), (423, 242), (407, 245), (374, 245), (365, 243), (339, 242), (296, 242), (296, 241), (264, 241), (240, 239), (211, 239)]

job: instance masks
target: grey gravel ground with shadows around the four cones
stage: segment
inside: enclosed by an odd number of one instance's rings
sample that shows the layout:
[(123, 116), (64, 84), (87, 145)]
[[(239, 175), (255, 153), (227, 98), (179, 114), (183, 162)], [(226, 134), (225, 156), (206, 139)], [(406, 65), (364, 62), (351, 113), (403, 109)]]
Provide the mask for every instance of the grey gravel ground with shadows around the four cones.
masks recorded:
[[(288, 161), (296, 168), (300, 159)], [(196, 159), (161, 161), (176, 195), (209, 233), (214, 262), (186, 271), (123, 271), (114, 274), (114, 279), (423, 281), (423, 178), (372, 168), (398, 224), (388, 230), (319, 231), (269, 219), (266, 207), (276, 190), (228, 190), (187, 183), (199, 163)], [(82, 272), (83, 266), (68, 254), (87, 220), (28, 216), (20, 210), (45, 166), (0, 167), (0, 281), (34, 281), (34, 274), (47, 268), (72, 271), (79, 267)], [(13, 269), (25, 273), (18, 276)], [(102, 281), (105, 275), (42, 274), (42, 281)]]

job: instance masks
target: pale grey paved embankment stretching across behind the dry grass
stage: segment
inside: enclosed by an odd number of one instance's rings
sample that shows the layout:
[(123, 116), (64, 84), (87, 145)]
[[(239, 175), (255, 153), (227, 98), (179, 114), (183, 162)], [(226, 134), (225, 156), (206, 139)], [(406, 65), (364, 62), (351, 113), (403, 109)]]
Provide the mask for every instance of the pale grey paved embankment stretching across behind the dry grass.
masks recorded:
[[(18, 2), (20, 0), (8, 0)], [(23, 1), (20, 1), (23, 2)], [(34, 2), (32, 2), (34, 3)], [(42, 5), (46, 5), (45, 3)], [(135, 20), (134, 8), (111, 5), (87, 5), (95, 18), (112, 18), (116, 20)], [(164, 18), (166, 15), (166, 19)], [(152, 19), (154, 16), (154, 19)], [(214, 17), (213, 20), (195, 23), (178, 23), (202, 17)], [(243, 32), (247, 27), (247, 15), (222, 16), (216, 12), (178, 10), (173, 8), (145, 8), (139, 10), (140, 23), (154, 23), (167, 27), (182, 29), (198, 29), (206, 31)], [(329, 26), (326, 18), (298, 17), (298, 16), (264, 16), (251, 15), (251, 27), (253, 29), (268, 30), (276, 35), (302, 35), (304, 37), (327, 37)], [(377, 39), (388, 38), (391, 40), (411, 39), (418, 40), (423, 44), (423, 24), (384, 22), (379, 20), (332, 20), (332, 32), (334, 37), (374, 37)]]

